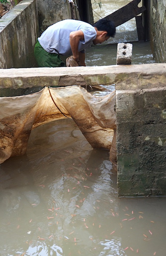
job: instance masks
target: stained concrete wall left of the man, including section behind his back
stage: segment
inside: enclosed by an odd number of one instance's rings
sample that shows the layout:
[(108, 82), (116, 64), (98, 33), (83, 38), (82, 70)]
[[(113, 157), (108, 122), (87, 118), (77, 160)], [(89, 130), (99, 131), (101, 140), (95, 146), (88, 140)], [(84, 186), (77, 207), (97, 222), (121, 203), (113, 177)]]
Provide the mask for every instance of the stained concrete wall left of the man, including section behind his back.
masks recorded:
[(35, 67), (37, 37), (49, 25), (73, 15), (79, 19), (68, 0), (22, 0), (0, 19), (0, 68)]

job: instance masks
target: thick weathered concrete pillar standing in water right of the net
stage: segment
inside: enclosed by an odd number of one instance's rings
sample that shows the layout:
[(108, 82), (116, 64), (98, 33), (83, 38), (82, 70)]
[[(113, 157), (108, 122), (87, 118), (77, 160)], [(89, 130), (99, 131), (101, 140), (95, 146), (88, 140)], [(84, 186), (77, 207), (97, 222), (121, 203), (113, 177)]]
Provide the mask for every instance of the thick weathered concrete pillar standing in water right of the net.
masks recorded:
[(116, 83), (119, 196), (166, 195), (166, 78), (143, 73)]

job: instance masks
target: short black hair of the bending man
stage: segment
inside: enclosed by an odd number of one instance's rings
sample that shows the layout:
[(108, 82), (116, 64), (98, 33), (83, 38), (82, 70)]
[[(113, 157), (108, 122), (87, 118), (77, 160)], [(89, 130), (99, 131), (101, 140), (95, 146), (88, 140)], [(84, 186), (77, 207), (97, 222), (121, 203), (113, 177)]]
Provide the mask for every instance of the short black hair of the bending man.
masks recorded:
[(94, 25), (99, 31), (107, 31), (107, 36), (114, 37), (116, 33), (116, 27), (114, 22), (107, 18), (99, 19)]

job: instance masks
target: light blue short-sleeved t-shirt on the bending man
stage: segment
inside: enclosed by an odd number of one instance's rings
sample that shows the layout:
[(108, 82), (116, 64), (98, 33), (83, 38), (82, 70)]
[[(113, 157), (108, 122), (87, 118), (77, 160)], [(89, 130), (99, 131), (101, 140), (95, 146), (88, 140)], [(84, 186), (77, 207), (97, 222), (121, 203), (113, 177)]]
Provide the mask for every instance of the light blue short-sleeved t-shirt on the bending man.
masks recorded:
[(64, 56), (72, 55), (69, 35), (72, 31), (81, 30), (84, 40), (79, 41), (78, 51), (82, 51), (91, 45), (96, 38), (96, 30), (89, 23), (81, 20), (65, 19), (49, 26), (38, 38), (40, 45), (50, 53), (58, 53)]

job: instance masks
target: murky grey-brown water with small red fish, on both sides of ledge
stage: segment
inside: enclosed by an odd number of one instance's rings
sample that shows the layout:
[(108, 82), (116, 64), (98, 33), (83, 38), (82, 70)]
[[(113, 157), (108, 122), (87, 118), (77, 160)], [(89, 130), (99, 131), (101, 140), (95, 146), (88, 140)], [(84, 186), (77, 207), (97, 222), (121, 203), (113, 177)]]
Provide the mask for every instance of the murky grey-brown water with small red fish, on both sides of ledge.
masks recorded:
[[(116, 64), (116, 44), (86, 56), (88, 66)], [(132, 63), (150, 62), (149, 42), (134, 42)], [(165, 197), (118, 198), (109, 152), (71, 119), (34, 129), (0, 176), (1, 256), (165, 255)]]

